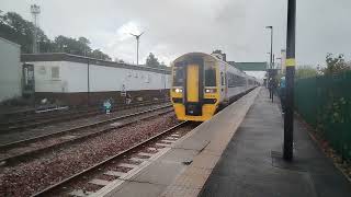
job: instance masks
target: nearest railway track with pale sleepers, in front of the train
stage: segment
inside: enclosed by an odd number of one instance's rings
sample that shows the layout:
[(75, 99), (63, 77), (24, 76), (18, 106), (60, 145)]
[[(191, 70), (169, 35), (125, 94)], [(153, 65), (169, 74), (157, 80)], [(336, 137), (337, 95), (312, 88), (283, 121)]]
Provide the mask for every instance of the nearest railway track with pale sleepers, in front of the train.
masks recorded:
[(102, 196), (162, 155), (194, 128), (190, 125), (182, 121), (32, 196)]

